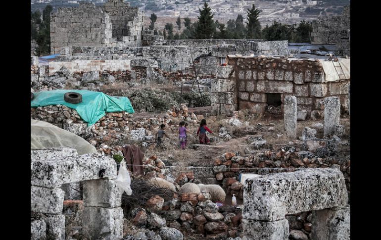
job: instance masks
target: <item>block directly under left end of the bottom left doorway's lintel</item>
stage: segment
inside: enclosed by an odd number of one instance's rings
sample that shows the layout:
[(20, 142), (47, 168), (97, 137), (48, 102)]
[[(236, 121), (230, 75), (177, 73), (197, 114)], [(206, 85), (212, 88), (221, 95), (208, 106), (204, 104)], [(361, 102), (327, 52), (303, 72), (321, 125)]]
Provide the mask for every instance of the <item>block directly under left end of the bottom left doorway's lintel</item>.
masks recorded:
[(59, 189), (31, 186), (30, 209), (32, 212), (60, 214), (63, 208), (65, 193)]

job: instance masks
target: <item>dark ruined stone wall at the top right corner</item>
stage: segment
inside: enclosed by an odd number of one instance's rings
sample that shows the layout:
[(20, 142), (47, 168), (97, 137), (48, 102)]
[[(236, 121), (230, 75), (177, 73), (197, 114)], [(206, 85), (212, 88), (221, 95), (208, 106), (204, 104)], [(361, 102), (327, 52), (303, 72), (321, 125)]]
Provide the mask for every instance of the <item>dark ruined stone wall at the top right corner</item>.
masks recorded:
[(312, 23), (312, 44), (336, 44), (338, 54), (350, 56), (350, 5), (341, 16), (320, 18)]

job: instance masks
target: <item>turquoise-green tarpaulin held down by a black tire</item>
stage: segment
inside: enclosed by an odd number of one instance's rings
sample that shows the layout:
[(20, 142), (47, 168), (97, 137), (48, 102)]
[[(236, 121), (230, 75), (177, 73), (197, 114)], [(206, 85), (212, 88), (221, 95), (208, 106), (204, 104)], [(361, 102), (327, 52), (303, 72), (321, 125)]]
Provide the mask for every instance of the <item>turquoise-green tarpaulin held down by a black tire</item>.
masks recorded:
[[(81, 94), (82, 102), (77, 104), (66, 102), (63, 99), (63, 96), (67, 92)], [(34, 98), (30, 103), (31, 107), (57, 104), (75, 109), (81, 118), (89, 123), (89, 126), (102, 118), (106, 112), (135, 112), (130, 100), (125, 96), (107, 96), (100, 92), (87, 90), (53, 90), (37, 92), (34, 93)]]

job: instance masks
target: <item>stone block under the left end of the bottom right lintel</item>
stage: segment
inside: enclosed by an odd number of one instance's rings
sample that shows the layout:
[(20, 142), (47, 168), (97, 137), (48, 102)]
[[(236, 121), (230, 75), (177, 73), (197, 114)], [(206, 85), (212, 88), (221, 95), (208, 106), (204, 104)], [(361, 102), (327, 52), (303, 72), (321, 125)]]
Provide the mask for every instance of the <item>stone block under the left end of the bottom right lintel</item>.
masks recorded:
[(242, 219), (243, 240), (288, 240), (286, 219), (273, 222)]

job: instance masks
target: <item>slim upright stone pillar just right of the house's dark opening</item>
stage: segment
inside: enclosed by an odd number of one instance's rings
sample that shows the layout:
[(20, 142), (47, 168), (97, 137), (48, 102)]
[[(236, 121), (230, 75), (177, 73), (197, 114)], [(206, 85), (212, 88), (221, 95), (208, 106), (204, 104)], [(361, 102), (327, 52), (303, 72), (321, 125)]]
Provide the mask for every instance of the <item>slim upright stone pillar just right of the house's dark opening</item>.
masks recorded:
[(286, 96), (284, 105), (284, 121), (286, 127), (286, 134), (292, 138), (296, 138), (296, 120), (297, 120), (297, 107), (296, 96)]

